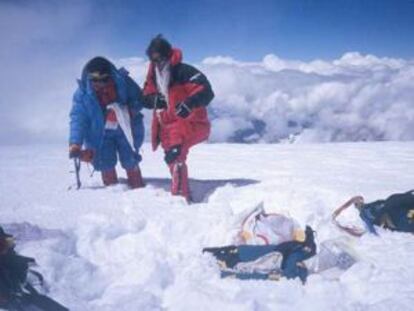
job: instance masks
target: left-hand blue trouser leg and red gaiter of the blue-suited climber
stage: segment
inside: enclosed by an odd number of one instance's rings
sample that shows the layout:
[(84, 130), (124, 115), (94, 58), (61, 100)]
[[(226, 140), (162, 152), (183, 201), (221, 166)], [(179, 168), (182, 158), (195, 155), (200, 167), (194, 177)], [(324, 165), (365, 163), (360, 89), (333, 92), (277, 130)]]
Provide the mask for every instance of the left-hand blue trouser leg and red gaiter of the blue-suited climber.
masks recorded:
[(106, 130), (100, 150), (100, 156), (97, 159), (98, 163), (95, 165), (97, 170), (101, 171), (102, 182), (105, 186), (118, 183), (118, 176), (116, 174), (116, 144), (113, 130)]

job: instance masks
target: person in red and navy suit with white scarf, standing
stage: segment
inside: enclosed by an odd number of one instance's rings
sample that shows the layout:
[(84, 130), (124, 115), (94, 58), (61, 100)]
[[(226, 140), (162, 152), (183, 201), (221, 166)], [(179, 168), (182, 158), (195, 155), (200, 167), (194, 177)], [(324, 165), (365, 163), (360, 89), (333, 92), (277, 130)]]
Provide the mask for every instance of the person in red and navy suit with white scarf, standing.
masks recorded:
[(206, 106), (214, 93), (206, 76), (182, 63), (182, 52), (158, 35), (147, 48), (151, 63), (144, 86), (144, 107), (153, 109), (152, 147), (161, 143), (170, 168), (171, 193), (191, 201), (186, 159), (190, 147), (210, 134)]

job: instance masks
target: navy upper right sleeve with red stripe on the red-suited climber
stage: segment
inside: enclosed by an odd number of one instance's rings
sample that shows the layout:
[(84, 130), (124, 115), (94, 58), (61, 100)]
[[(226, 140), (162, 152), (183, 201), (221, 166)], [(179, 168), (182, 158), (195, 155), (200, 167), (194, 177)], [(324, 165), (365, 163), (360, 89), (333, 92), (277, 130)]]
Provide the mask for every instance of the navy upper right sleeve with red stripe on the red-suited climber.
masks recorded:
[(178, 79), (184, 84), (188, 97), (186, 104), (191, 108), (205, 107), (214, 98), (214, 92), (207, 77), (193, 66), (182, 64)]

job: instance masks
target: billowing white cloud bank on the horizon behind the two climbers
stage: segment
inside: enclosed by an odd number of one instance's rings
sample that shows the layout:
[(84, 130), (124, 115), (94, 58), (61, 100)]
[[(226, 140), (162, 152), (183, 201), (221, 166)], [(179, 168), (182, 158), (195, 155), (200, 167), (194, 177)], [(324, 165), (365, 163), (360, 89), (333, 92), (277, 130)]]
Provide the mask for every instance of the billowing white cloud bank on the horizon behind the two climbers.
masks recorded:
[[(119, 63), (144, 80), (142, 58)], [(350, 52), (310, 62), (218, 56), (196, 66), (216, 94), (209, 108), (213, 142), (414, 139), (412, 61)]]

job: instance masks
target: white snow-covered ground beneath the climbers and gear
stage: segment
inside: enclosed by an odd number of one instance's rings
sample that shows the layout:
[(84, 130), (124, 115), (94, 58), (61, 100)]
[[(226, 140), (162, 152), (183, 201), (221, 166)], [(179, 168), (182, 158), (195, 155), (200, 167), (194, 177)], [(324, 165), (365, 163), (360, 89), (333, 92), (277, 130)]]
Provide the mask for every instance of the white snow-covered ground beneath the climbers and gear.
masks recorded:
[(355, 194), (371, 201), (414, 188), (413, 154), (412, 142), (200, 145), (189, 167), (202, 202), (187, 205), (165, 190), (162, 153), (148, 145), (142, 170), (150, 182), (134, 191), (101, 187), (85, 166), (84, 187), (68, 191), (66, 146), (3, 146), (0, 222), (71, 310), (412, 310), (410, 234), (351, 238), (358, 263), (339, 277), (311, 275), (304, 286), (222, 280), (201, 249), (230, 243), (240, 213), (261, 201), (312, 225), (318, 242), (342, 237), (332, 210)]

